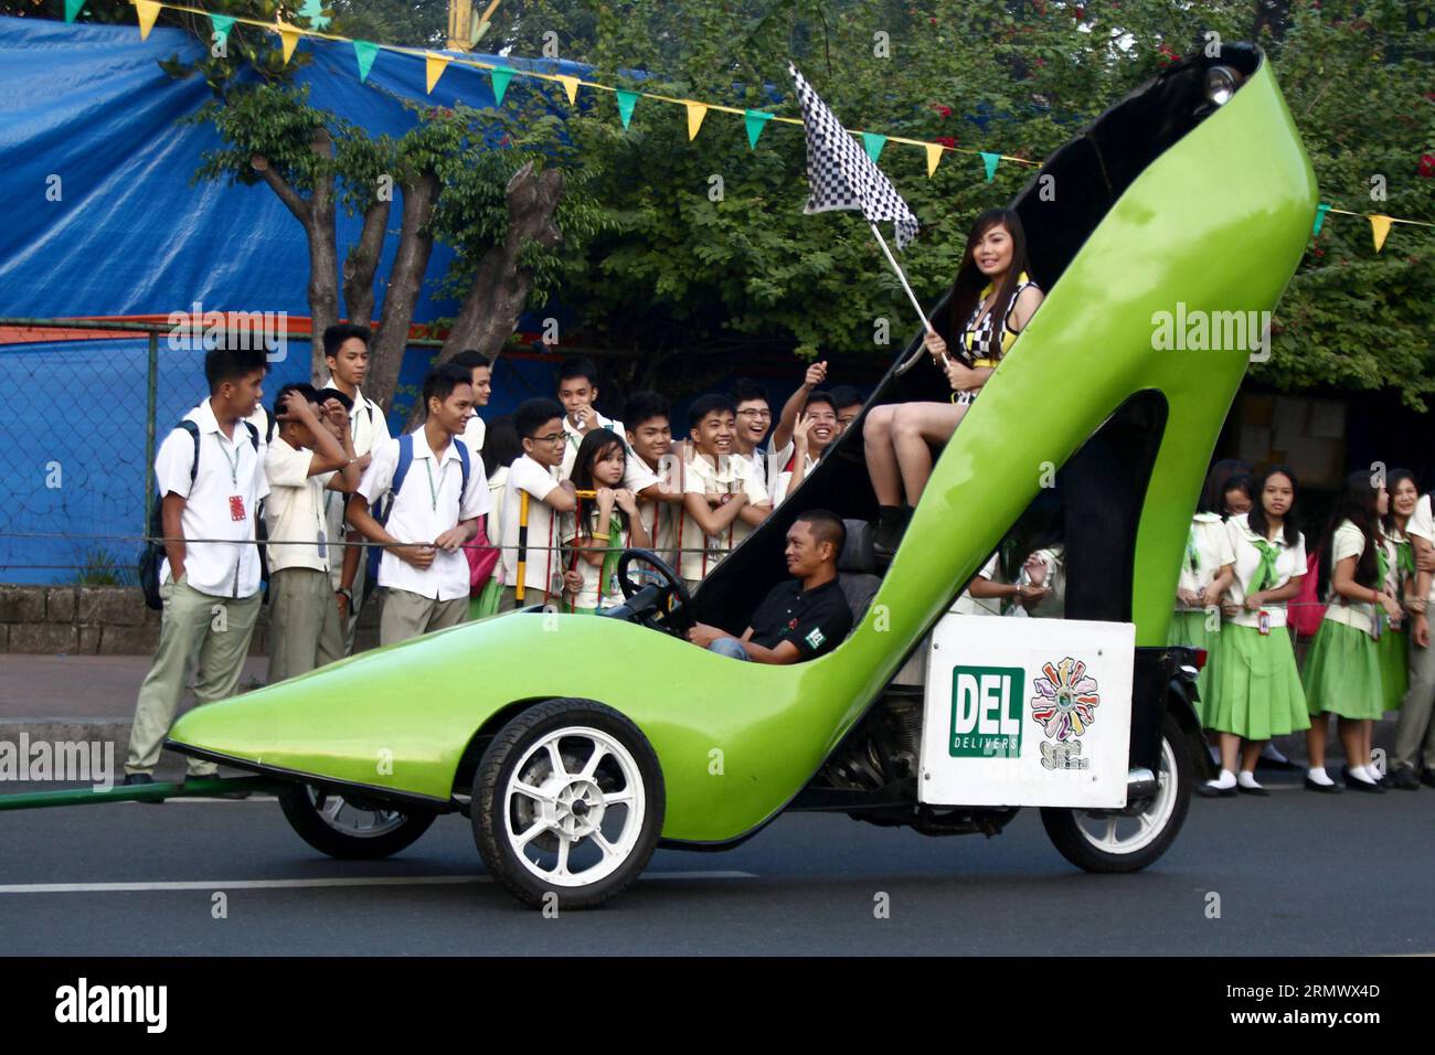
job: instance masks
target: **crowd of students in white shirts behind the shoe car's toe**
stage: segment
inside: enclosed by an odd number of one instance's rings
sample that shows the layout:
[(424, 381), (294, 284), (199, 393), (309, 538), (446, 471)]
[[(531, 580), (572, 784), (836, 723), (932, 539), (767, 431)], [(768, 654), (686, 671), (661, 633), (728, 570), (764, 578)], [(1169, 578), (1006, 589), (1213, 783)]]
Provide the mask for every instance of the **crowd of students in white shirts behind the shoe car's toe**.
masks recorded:
[[(577, 613), (617, 604), (617, 557), (627, 547), (653, 550), (696, 589), (864, 402), (855, 388), (822, 390), (827, 365), (817, 363), (775, 423), (766, 390), (739, 380), (732, 396), (695, 399), (686, 438), (674, 439), (669, 405), (654, 392), (629, 398), (626, 422), (604, 418), (597, 369), (574, 357), (554, 398), (485, 421), (491, 363), (464, 352), (425, 379), (423, 423), (393, 436), (362, 390), (369, 339), (367, 327), (329, 327), (329, 379), (284, 385), (270, 408), (261, 350), (205, 356), (210, 396), (155, 461), (164, 617), (136, 702), (126, 784), (152, 781), (191, 676), (199, 703), (232, 695), (265, 587), (270, 682), (350, 653), (370, 594), (367, 603), (382, 606), (379, 642), (390, 644), (519, 604)], [(841, 521), (808, 520), (805, 571), (794, 576), (827, 587)], [(825, 626), (822, 640), (835, 646), (844, 630)], [(742, 647), (725, 639), (715, 650)], [(776, 655), (792, 662), (796, 652)], [(812, 655), (808, 647), (802, 657)], [(208, 777), (215, 766), (189, 759), (188, 772)]]

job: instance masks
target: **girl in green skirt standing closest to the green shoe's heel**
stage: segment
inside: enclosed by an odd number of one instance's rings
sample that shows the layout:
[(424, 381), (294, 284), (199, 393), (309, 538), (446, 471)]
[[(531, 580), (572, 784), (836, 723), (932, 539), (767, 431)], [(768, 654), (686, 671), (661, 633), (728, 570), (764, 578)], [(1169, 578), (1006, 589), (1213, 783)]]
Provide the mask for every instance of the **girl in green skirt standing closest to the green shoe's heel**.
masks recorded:
[(1197, 706), (1201, 712), (1201, 726), (1210, 728), (1207, 715), (1214, 713), (1215, 669), (1221, 640), (1221, 594), (1236, 578), (1236, 553), (1231, 537), (1221, 518), (1221, 491), (1224, 475), (1215, 474), (1205, 481), (1191, 531), (1185, 540), (1185, 555), (1181, 560), (1181, 577), (1177, 580), (1177, 606), (1171, 616), (1168, 644), (1185, 644), (1205, 650), (1205, 666), (1195, 679)]

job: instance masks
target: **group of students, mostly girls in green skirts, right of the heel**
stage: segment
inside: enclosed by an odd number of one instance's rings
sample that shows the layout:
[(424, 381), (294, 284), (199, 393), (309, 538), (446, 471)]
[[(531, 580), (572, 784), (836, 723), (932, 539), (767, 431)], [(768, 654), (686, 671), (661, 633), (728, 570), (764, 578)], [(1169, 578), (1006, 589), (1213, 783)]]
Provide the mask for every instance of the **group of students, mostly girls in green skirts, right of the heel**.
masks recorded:
[[(1205, 652), (1201, 718), (1221, 771), (1200, 789), (1267, 794), (1257, 761), (1273, 736), (1302, 731), (1310, 791), (1435, 787), (1431, 497), (1406, 469), (1353, 472), (1307, 547), (1297, 494), (1289, 466), (1217, 462), (1191, 521), (1170, 640)], [(1300, 669), (1292, 632), (1312, 637)], [(1380, 766), (1372, 729), (1391, 711), (1395, 749)], [(1332, 716), (1339, 782), (1326, 768)]]

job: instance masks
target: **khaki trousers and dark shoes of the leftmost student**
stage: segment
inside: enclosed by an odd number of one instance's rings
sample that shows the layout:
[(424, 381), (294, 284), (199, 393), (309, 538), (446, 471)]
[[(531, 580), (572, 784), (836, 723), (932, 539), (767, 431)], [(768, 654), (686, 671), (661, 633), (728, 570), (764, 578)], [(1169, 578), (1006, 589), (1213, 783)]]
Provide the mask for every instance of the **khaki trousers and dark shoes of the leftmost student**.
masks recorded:
[[(212, 597), (189, 587), (188, 581), (169, 581), (159, 587), (165, 609), (159, 623), (159, 647), (155, 662), (139, 686), (135, 723), (129, 731), (129, 756), (125, 772), (154, 772), (159, 764), (165, 735), (174, 725), (179, 699), (194, 676), (194, 696), (199, 705), (234, 695), (250, 652), (250, 637), (260, 614), (260, 594), (251, 597)], [(189, 759), (189, 772), (198, 777), (218, 772), (214, 762)]]

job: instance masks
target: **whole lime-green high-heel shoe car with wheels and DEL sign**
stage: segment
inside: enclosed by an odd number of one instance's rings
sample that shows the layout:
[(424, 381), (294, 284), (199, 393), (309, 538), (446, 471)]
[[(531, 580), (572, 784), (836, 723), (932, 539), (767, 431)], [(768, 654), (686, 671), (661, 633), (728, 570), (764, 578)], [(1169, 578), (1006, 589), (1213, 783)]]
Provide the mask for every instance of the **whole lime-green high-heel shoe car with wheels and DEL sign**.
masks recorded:
[[(852, 533), (855, 626), (819, 659), (738, 663), (682, 634), (695, 617), (746, 624), (802, 510), (875, 515), (861, 422), (695, 597), (662, 567), (663, 583), (634, 581), (630, 551), (608, 617), (509, 613), (364, 653), (195, 709), (169, 746), (286, 781), (286, 817), (337, 857), (383, 857), (468, 814), (489, 871), (531, 904), (598, 904), (656, 847), (735, 845), (785, 810), (994, 834), (1038, 805), (1075, 864), (1145, 867), (1208, 765), (1198, 660), (1167, 647), (1167, 623), (1251, 355), (1162, 349), (1157, 320), (1274, 309), (1316, 202), (1253, 46), (1174, 63), (1059, 149), (1012, 205), (1046, 301), (880, 580)], [(936, 376), (888, 372), (864, 413), (944, 398)], [(1066, 525), (1065, 620), (947, 614), (1038, 500)]]

